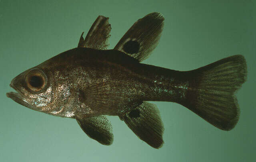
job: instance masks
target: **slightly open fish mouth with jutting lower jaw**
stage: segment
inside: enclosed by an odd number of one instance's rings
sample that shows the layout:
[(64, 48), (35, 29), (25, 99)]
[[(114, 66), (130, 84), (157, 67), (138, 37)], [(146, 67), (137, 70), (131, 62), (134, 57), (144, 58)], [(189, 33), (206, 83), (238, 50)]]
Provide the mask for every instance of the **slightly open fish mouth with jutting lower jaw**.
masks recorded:
[(6, 93), (6, 96), (15, 101), (16, 103), (27, 107), (28, 103), (24, 101), (25, 95), (23, 95), (16, 87), (14, 87), (12, 83), (10, 84), (10, 87), (12, 87), (16, 92), (8, 92)]

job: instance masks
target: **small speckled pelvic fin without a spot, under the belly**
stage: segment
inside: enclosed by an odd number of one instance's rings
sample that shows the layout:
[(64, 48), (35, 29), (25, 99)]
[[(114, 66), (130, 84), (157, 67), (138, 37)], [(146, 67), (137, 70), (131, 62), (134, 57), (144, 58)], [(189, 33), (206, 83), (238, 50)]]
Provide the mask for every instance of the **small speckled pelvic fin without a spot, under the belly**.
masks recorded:
[(113, 142), (112, 125), (104, 116), (76, 119), (82, 130), (92, 139), (104, 145)]

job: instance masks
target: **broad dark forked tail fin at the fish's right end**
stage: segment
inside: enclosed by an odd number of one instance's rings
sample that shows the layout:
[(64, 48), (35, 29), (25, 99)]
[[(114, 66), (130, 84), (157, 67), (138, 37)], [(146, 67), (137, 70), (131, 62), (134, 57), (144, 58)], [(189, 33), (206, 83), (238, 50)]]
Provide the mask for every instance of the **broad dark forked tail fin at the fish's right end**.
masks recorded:
[(242, 55), (227, 57), (188, 71), (190, 88), (184, 105), (210, 124), (231, 130), (239, 119), (240, 109), (234, 93), (246, 81), (247, 66)]

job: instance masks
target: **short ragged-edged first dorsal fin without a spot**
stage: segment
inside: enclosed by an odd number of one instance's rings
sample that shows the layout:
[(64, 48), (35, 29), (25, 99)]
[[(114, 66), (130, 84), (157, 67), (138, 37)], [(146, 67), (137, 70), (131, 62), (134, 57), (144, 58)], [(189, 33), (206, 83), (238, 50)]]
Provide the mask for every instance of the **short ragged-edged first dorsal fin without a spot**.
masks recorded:
[(108, 38), (110, 38), (111, 26), (108, 24), (108, 18), (104, 16), (98, 16), (95, 22), (92, 24), (86, 38), (83, 38), (84, 32), (80, 36), (78, 47), (88, 47), (94, 49), (107, 49)]

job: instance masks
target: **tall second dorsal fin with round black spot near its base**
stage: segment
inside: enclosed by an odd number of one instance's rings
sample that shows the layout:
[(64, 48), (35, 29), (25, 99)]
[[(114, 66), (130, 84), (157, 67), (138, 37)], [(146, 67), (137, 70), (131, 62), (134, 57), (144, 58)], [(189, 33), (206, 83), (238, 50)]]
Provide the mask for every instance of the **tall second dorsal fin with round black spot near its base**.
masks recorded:
[(138, 61), (143, 61), (156, 48), (163, 26), (162, 14), (150, 13), (135, 22), (114, 49), (130, 55)]

